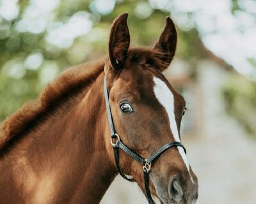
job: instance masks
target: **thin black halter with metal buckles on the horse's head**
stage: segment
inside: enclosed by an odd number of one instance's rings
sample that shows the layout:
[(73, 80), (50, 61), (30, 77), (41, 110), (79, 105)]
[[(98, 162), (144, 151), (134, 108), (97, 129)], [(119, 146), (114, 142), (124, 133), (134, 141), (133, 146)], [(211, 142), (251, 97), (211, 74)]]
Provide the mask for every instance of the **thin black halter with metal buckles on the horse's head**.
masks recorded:
[[(125, 153), (127, 153), (129, 156), (131, 156), (133, 159), (135, 159), (136, 161), (138, 161), (140, 164), (143, 165), (143, 175), (144, 175), (145, 190), (146, 190), (148, 203), (149, 204), (154, 204), (154, 201), (151, 197), (151, 193), (150, 193), (150, 190), (149, 190), (149, 178), (148, 178), (148, 173), (151, 169), (152, 162), (155, 159), (157, 159), (163, 152), (165, 152), (166, 150), (168, 150), (171, 147), (180, 146), (184, 149), (185, 153), (186, 153), (186, 149), (185, 149), (185, 147), (183, 146), (183, 144), (181, 142), (170, 142), (170, 143), (167, 143), (167, 144), (163, 145), (163, 147), (161, 147), (159, 150), (157, 150), (155, 153), (153, 153), (148, 159), (144, 159), (143, 157), (141, 157), (137, 153), (133, 152), (125, 144), (123, 144), (121, 142), (120, 137), (116, 133), (116, 130), (115, 130), (115, 127), (114, 127), (114, 124), (113, 124), (112, 115), (111, 115), (109, 100), (108, 100), (108, 89), (107, 89), (106, 77), (104, 77), (104, 95), (105, 95), (105, 102), (106, 102), (106, 108), (107, 108), (107, 113), (108, 113), (108, 123), (109, 123), (110, 134), (111, 134), (111, 144), (112, 144), (112, 147), (113, 147), (113, 150), (114, 150), (114, 156), (115, 156), (117, 170), (118, 170), (119, 174), (123, 178), (125, 178), (126, 180), (134, 181), (134, 179), (132, 179), (132, 178), (127, 178), (125, 176), (125, 174), (122, 172), (122, 169), (121, 169), (120, 164), (119, 164), (119, 152), (118, 152), (118, 147), (119, 147)], [(116, 142), (114, 143), (113, 140), (115, 140)]]

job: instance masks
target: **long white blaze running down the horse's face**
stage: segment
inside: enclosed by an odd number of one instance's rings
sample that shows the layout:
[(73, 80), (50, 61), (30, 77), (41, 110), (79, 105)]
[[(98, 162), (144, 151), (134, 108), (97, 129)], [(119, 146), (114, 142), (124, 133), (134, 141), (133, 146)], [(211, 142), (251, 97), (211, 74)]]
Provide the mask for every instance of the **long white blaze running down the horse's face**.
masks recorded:
[[(175, 119), (174, 96), (172, 94), (172, 91), (168, 88), (166, 83), (163, 82), (161, 79), (159, 79), (157, 77), (153, 77), (153, 80), (155, 83), (154, 94), (157, 97), (160, 104), (163, 105), (163, 107), (166, 109), (166, 112), (169, 117), (171, 131), (172, 131), (175, 141), (180, 142), (180, 137), (179, 137), (178, 128), (177, 128), (176, 119)], [(185, 151), (183, 150), (182, 147), (177, 147), (177, 148), (178, 148), (180, 155), (186, 165), (186, 168), (189, 171), (189, 161), (186, 157)], [(189, 175), (190, 175), (190, 171), (189, 171)], [(191, 175), (190, 175), (190, 178), (191, 178), (192, 182), (194, 182)]]

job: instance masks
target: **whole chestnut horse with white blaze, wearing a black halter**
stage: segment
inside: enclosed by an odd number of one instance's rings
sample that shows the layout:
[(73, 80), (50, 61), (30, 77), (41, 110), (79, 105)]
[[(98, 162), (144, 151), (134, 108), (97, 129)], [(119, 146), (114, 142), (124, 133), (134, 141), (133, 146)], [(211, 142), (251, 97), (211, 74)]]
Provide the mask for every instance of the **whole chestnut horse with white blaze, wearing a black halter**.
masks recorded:
[(3, 121), (1, 204), (97, 204), (118, 172), (149, 203), (196, 202), (198, 178), (180, 142), (185, 100), (162, 73), (175, 25), (167, 17), (153, 48), (129, 48), (127, 18), (113, 21), (108, 55), (68, 68)]

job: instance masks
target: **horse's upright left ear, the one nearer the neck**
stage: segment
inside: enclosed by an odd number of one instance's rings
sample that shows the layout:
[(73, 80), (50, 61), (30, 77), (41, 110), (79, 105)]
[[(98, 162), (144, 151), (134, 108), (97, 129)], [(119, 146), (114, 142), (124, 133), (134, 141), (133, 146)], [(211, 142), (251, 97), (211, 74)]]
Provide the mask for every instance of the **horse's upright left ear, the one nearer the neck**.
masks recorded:
[(130, 33), (126, 22), (127, 17), (128, 13), (119, 15), (111, 27), (108, 54), (111, 65), (115, 70), (124, 65), (130, 45)]

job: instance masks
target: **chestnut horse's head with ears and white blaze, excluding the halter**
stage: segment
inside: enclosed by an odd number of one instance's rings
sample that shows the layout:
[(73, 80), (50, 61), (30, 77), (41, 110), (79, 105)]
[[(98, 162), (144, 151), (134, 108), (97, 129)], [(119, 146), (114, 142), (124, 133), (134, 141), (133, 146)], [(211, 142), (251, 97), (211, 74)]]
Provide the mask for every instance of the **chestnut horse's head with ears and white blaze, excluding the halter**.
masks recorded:
[[(113, 22), (104, 71), (113, 124), (119, 135), (116, 139), (132, 152), (148, 158), (167, 143), (181, 142), (185, 100), (163, 75), (175, 55), (177, 32), (167, 17), (153, 48), (129, 48), (127, 17), (128, 14), (122, 14)], [(109, 137), (108, 146), (109, 157), (116, 165)], [(142, 165), (122, 150), (119, 165), (146, 193)], [(149, 189), (155, 203), (196, 202), (198, 178), (183, 147), (169, 148), (157, 156), (150, 168)]]

